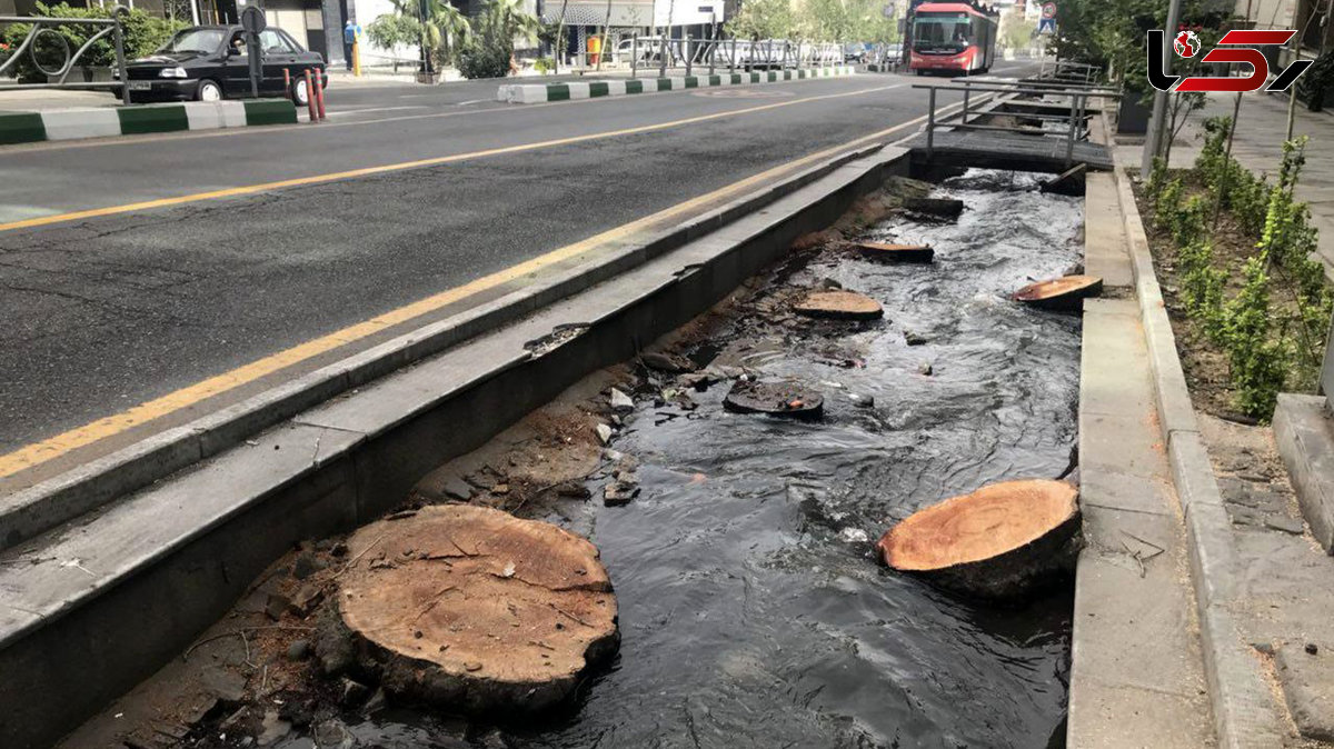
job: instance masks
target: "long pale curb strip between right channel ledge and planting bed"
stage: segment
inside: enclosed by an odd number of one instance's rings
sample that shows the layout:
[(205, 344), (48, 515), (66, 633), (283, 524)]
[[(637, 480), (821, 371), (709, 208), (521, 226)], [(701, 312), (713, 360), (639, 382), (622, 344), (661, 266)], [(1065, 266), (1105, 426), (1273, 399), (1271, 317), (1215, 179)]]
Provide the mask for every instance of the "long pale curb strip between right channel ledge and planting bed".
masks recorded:
[(1209, 452), (1199, 434), (1186, 377), (1177, 355), (1162, 289), (1154, 273), (1149, 239), (1130, 179), (1114, 172), (1125, 220), (1135, 296), (1149, 347), (1159, 429), (1171, 462), (1177, 498), (1186, 521), (1191, 582), (1199, 616), (1201, 649), (1214, 732), (1225, 749), (1282, 746), (1286, 734), (1261, 661), (1242, 640), (1229, 606), (1237, 582), (1231, 522), (1223, 508)]

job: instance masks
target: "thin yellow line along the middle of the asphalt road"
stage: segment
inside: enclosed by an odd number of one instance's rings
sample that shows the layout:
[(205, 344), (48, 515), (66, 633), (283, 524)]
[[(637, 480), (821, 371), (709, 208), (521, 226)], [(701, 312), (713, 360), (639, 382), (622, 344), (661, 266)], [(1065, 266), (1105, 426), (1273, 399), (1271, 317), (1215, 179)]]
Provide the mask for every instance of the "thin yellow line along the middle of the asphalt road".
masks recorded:
[(440, 164), (451, 164), (455, 161), (466, 161), (470, 159), (484, 159), (488, 156), (502, 156), (504, 153), (522, 153), (524, 151), (538, 151), (542, 148), (555, 148), (559, 145), (572, 145), (576, 143), (587, 143), (590, 140), (600, 140), (606, 137), (618, 137), (626, 135), (638, 135), (655, 131), (664, 131), (668, 128), (676, 128), (680, 125), (691, 125), (695, 123), (706, 123), (708, 120), (718, 120), (722, 117), (732, 117), (736, 115), (750, 115), (754, 112), (764, 112), (768, 109), (778, 109), (780, 107), (792, 107), (794, 104), (806, 104), (810, 101), (820, 101), (824, 99), (842, 99), (844, 96), (859, 96), (863, 93), (875, 93), (878, 91), (887, 91), (891, 88), (899, 88), (903, 84), (895, 85), (882, 85), (878, 88), (862, 88), (858, 91), (846, 91), (840, 93), (824, 93), (820, 96), (807, 96), (806, 99), (794, 99), (792, 101), (778, 101), (774, 104), (762, 104), (759, 107), (747, 107), (744, 109), (728, 109), (727, 112), (714, 112), (711, 115), (699, 115), (695, 117), (686, 117), (683, 120), (672, 120), (668, 123), (655, 123), (651, 125), (639, 125), (634, 128), (624, 128), (619, 131), (607, 131), (600, 133), (587, 133), (576, 135), (570, 137), (560, 137), (555, 140), (544, 140), (539, 143), (524, 143), (519, 145), (506, 145), (502, 148), (488, 148), (486, 151), (474, 151), (471, 153), (454, 153), (451, 156), (436, 156), (432, 159), (418, 159), (416, 161), (402, 161), (398, 164), (382, 164), (379, 167), (364, 167), (362, 169), (348, 169), (346, 172), (331, 172), (327, 175), (312, 175), (309, 177), (295, 177), (291, 180), (277, 180), (273, 183), (261, 183), (256, 185), (243, 185), (235, 188), (215, 189), (209, 192), (196, 192), (193, 195), (180, 195), (176, 197), (159, 197), (156, 200), (144, 200), (141, 203), (128, 203), (124, 205), (108, 205), (105, 208), (91, 208), (87, 211), (73, 211), (71, 213), (56, 213), (52, 216), (37, 216), (35, 219), (23, 219), (19, 221), (8, 221), (0, 224), (0, 232), (11, 232), (15, 229), (31, 229), (33, 227), (48, 227), (51, 224), (64, 224), (68, 221), (79, 221), (83, 219), (97, 219), (101, 216), (116, 216), (120, 213), (133, 213), (137, 211), (151, 211), (155, 208), (167, 208), (171, 205), (184, 205), (188, 203), (200, 203), (205, 200), (219, 200), (224, 197), (237, 197), (243, 195), (255, 195), (259, 192), (268, 192), (283, 188), (303, 187), (303, 185), (317, 185), (324, 183), (332, 183), (338, 180), (350, 180), (355, 177), (370, 177), (375, 175), (384, 175), (390, 172), (402, 172), (404, 169), (419, 169), (422, 167), (438, 167)]

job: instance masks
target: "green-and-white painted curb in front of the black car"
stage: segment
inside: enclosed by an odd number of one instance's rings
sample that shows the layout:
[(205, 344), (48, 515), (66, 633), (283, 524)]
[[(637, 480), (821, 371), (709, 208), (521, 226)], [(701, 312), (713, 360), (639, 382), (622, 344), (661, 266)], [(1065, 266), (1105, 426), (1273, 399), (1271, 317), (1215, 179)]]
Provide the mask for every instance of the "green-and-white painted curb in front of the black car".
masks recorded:
[(288, 99), (48, 109), (0, 115), (0, 145), (295, 123)]

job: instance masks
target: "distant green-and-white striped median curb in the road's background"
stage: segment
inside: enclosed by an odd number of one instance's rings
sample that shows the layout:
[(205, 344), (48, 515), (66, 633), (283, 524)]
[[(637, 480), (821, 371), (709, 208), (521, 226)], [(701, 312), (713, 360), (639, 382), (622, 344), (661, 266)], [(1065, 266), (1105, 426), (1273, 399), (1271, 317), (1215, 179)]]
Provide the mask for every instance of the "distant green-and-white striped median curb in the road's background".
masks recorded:
[(752, 71), (748, 73), (715, 73), (662, 79), (623, 79), (588, 83), (506, 84), (496, 91), (496, 101), (510, 104), (539, 104), (568, 101), (571, 99), (599, 99), (603, 96), (630, 96), (659, 93), (688, 88), (716, 88), (724, 85), (756, 85), (792, 80), (826, 79), (852, 75), (851, 65), (828, 68), (799, 68), (795, 71)]

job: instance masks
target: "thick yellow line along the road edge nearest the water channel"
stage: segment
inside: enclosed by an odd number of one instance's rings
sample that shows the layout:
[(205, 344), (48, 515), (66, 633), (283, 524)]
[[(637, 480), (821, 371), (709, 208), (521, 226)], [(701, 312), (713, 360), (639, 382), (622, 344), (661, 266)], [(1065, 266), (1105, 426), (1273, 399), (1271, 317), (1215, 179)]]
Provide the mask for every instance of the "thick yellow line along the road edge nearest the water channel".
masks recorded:
[[(879, 91), (879, 89), (872, 89), (872, 91)], [(951, 108), (956, 107), (958, 105), (951, 105)], [(940, 113), (943, 115), (944, 112)], [(524, 276), (536, 273), (538, 271), (551, 267), (556, 263), (578, 257), (579, 255), (588, 252), (590, 249), (594, 249), (598, 245), (626, 239), (628, 236), (635, 235), (636, 232), (652, 227), (654, 224), (659, 224), (671, 219), (676, 219), (683, 213), (688, 213), (690, 211), (694, 211), (700, 205), (718, 203), (723, 199), (730, 197), (734, 193), (746, 191), (752, 185), (771, 180), (783, 172), (800, 168), (806, 164), (810, 164), (811, 161), (826, 159), (842, 151), (847, 151), (860, 144), (883, 139), (895, 132), (903, 131), (904, 128), (918, 125), (923, 120), (926, 120), (926, 117), (916, 117), (914, 120), (908, 120), (906, 123), (894, 125), (891, 128), (886, 128), (883, 131), (856, 137), (854, 140), (835, 145), (832, 148), (826, 148), (824, 151), (811, 153), (795, 161), (788, 161), (772, 169), (767, 169), (758, 175), (746, 177), (744, 180), (732, 183), (727, 187), (723, 187), (707, 195), (702, 195), (699, 197), (687, 200), (684, 203), (679, 203), (676, 205), (672, 205), (671, 208), (659, 211), (658, 213), (654, 213), (651, 216), (646, 216), (636, 221), (623, 224), (614, 229), (608, 229), (600, 235), (551, 251), (546, 255), (534, 257), (518, 265), (512, 265), (510, 268), (506, 268), (504, 271), (499, 271), (496, 273), (484, 276), (482, 279), (463, 284), (460, 287), (455, 287), (452, 289), (447, 289), (438, 295), (428, 296), (423, 300), (400, 307), (398, 309), (392, 309), (390, 312), (386, 312), (384, 315), (371, 317), (370, 320), (366, 320), (363, 323), (358, 323), (355, 325), (350, 325), (347, 328), (335, 331), (325, 336), (320, 336), (304, 344), (292, 347), (287, 351), (277, 352), (264, 359), (252, 361), (251, 364), (247, 364), (244, 367), (232, 369), (231, 372), (225, 372), (223, 374), (217, 374), (215, 377), (209, 377), (207, 380), (189, 385), (187, 388), (181, 388), (160, 398), (143, 402), (140, 405), (116, 413), (113, 416), (107, 416), (104, 418), (99, 418), (96, 421), (92, 421), (83, 426), (77, 426), (61, 434), (56, 434), (55, 437), (43, 440), (40, 442), (25, 445), (8, 454), (0, 456), (0, 478), (7, 476), (13, 476), (20, 470), (33, 468), (36, 465), (40, 465), (43, 462), (67, 454), (72, 450), (76, 450), (79, 448), (88, 446), (107, 437), (116, 436), (132, 428), (160, 418), (163, 416), (168, 416), (180, 409), (196, 405), (203, 400), (207, 400), (217, 394), (223, 394), (228, 390), (232, 390), (248, 382), (253, 382), (255, 380), (259, 380), (264, 376), (300, 364), (303, 361), (327, 353), (339, 347), (355, 343), (360, 339), (384, 331), (386, 328), (390, 328), (392, 325), (398, 325), (400, 323), (410, 321), (415, 317), (431, 313), (443, 307), (463, 300), (471, 295), (494, 289), (506, 283), (515, 281)]]

